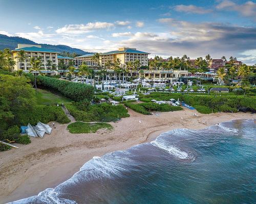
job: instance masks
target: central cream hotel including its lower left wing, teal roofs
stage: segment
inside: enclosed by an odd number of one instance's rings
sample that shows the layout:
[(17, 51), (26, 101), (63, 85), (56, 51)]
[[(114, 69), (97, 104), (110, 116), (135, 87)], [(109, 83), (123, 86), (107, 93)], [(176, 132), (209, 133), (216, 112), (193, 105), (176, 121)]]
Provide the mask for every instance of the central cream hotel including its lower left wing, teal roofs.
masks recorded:
[[(83, 62), (86, 62), (89, 66), (96, 66), (96, 62), (93, 60), (94, 54), (87, 54), (75, 57), (76, 66), (81, 65)], [(148, 65), (148, 55), (150, 53), (145, 53), (137, 50), (136, 48), (121, 47), (118, 50), (114, 50), (108, 53), (100, 53), (100, 65), (105, 66), (105, 63), (110, 61), (114, 63), (117, 58), (120, 60), (122, 66), (125, 66), (127, 62), (134, 62), (139, 60), (141, 66)]]

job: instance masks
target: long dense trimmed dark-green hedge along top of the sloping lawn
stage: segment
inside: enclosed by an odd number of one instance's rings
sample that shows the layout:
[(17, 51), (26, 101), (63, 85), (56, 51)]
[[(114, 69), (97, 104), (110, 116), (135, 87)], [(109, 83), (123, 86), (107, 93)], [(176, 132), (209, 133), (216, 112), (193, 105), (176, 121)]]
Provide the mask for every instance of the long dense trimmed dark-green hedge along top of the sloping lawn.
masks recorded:
[(37, 80), (38, 85), (50, 90), (58, 91), (74, 101), (83, 99), (92, 100), (94, 95), (94, 87), (91, 85), (44, 77), (41, 75), (37, 76)]

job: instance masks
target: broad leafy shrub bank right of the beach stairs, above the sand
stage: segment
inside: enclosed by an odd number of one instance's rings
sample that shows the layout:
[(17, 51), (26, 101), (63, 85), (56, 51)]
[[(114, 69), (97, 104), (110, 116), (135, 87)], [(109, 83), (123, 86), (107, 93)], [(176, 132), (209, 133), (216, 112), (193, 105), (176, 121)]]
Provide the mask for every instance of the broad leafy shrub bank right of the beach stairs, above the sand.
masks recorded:
[(87, 111), (80, 110), (76, 103), (66, 103), (65, 106), (76, 120), (83, 122), (111, 122), (130, 116), (122, 105), (113, 106), (106, 103), (90, 105)]

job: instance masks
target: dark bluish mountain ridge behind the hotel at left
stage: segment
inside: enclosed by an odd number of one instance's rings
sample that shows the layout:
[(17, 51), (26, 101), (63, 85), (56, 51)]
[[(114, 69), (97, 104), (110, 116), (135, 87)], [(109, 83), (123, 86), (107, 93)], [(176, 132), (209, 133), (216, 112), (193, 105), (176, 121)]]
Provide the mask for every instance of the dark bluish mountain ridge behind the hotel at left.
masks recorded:
[(53, 49), (57, 52), (69, 52), (69, 53), (76, 53), (77, 55), (86, 55), (90, 54), (89, 52), (85, 52), (81, 49), (73, 48), (67, 45), (51, 45), (51, 44), (39, 44), (32, 40), (21, 38), (21, 37), (10, 37), (7, 35), (0, 34), (0, 50), (4, 48), (9, 48), (11, 50), (15, 49), (18, 44), (37, 44), (41, 45), (42, 48)]

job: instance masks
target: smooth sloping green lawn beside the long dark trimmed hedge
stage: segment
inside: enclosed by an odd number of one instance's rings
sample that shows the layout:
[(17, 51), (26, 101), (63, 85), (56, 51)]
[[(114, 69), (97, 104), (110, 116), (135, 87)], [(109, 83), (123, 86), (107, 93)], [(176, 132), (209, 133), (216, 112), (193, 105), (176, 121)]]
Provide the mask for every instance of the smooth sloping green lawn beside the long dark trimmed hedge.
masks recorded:
[(71, 99), (44, 89), (37, 89), (36, 101), (38, 105), (56, 105), (71, 102)]

